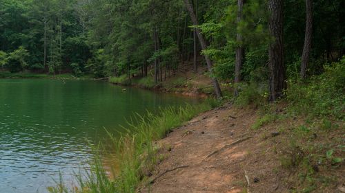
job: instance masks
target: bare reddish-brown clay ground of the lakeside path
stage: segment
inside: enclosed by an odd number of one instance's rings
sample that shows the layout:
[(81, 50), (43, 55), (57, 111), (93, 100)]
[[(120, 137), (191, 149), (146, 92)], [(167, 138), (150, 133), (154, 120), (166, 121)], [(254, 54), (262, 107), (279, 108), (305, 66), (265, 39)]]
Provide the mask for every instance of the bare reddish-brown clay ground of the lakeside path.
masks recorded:
[[(282, 136), (274, 134), (274, 127), (253, 131), (256, 117), (254, 110), (228, 104), (176, 128), (157, 141), (165, 158), (138, 192), (291, 192), (293, 187), (282, 180), (287, 172), (277, 170), (280, 163), (273, 148)], [(340, 181), (342, 177), (340, 173)]]

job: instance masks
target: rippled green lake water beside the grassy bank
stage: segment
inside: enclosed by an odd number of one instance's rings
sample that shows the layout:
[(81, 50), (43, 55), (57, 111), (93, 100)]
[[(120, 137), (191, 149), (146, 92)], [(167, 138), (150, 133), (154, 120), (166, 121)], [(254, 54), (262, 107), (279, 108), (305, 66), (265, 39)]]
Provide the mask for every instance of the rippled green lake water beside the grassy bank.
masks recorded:
[[(92, 80), (0, 80), (0, 192), (47, 192), (88, 167), (92, 144), (134, 114), (197, 99)], [(106, 129), (105, 129), (106, 128)]]

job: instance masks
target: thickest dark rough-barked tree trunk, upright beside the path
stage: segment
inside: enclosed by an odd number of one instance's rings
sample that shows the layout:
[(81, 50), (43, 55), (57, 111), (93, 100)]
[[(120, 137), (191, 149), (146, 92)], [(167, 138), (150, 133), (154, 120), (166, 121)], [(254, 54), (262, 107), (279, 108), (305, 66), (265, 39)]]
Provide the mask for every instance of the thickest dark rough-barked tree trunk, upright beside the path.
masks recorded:
[(283, 1), (268, 0), (268, 12), (271, 14), (268, 21), (268, 30), (274, 38), (268, 49), (268, 66), (270, 69), (269, 100), (273, 102), (283, 97), (283, 91), (286, 89), (283, 61)]

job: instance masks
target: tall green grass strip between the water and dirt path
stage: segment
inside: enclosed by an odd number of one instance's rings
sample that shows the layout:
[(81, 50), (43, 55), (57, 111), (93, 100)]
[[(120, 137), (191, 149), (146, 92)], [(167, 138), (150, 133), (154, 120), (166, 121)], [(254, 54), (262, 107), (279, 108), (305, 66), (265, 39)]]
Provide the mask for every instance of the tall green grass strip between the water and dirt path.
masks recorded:
[(154, 141), (165, 137), (172, 128), (181, 126), (195, 115), (212, 109), (216, 104), (220, 103), (206, 100), (198, 105), (161, 109), (156, 115), (150, 112), (144, 116), (136, 115), (125, 127), (128, 130), (126, 135), (116, 137), (110, 134), (117, 165), (117, 170), (112, 170), (112, 178), (101, 160), (96, 159), (86, 177), (77, 176), (78, 188), (68, 189), (60, 181), (55, 188), (48, 190), (52, 193), (135, 192), (139, 183), (148, 179), (159, 159), (159, 146)]

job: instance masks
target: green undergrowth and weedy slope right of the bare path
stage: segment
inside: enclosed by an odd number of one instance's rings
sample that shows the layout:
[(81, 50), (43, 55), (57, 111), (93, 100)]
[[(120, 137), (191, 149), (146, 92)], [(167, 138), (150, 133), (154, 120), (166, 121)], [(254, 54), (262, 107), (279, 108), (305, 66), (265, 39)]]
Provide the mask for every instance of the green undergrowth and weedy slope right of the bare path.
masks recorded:
[(345, 159), (344, 85), (345, 58), (324, 65), (324, 73), (319, 76), (288, 80), (285, 98), (274, 103), (267, 101), (267, 88), (238, 85), (240, 93), (235, 104), (258, 109), (253, 129), (269, 124), (277, 130), (285, 127), (284, 122), (295, 124), (279, 130), (284, 139), (275, 144), (282, 170), (289, 173), (284, 180), (291, 192), (334, 190), (339, 183), (335, 174), (339, 174)]

